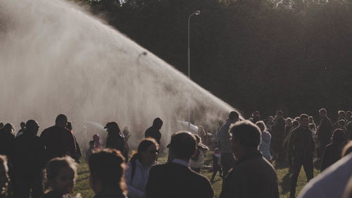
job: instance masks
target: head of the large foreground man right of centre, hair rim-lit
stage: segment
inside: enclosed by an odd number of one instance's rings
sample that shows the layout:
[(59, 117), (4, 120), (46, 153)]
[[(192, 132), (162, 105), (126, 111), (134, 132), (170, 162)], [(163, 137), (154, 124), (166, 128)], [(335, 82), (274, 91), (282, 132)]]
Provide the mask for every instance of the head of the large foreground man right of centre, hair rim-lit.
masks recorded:
[(258, 126), (249, 120), (235, 123), (230, 128), (232, 151), (234, 157), (239, 160), (247, 151), (258, 149), (261, 140), (261, 132)]

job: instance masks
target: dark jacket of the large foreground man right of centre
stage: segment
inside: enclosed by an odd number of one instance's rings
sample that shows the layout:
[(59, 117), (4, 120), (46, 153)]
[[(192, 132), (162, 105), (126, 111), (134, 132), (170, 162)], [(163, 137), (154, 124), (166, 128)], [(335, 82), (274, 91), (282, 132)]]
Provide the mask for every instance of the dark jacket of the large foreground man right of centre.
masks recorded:
[(247, 151), (228, 173), (220, 198), (278, 198), (277, 175), (257, 149)]

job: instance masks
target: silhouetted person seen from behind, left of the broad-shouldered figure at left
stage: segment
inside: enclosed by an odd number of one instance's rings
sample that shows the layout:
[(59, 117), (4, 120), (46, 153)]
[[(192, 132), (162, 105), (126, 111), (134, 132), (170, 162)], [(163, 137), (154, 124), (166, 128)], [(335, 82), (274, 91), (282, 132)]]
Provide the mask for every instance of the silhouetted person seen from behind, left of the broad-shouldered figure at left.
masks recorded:
[(15, 188), (13, 195), (18, 198), (40, 197), (43, 192), (42, 168), (44, 168), (44, 147), (37, 136), (39, 125), (28, 120), (26, 130), (15, 138), (13, 152), (13, 168)]

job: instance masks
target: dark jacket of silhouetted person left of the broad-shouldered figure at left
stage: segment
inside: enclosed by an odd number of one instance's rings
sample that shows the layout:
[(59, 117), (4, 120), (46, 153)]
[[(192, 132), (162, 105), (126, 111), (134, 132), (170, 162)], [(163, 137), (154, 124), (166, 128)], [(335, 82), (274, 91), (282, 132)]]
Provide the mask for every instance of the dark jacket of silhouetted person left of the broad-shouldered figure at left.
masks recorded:
[(40, 138), (29, 132), (15, 138), (13, 166), (16, 175), (37, 175), (44, 168), (44, 147)]

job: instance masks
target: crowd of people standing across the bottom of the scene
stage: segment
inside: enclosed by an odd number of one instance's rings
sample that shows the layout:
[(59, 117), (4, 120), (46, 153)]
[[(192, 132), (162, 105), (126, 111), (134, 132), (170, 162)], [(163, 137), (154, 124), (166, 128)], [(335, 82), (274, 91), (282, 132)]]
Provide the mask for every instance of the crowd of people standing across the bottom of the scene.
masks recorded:
[[(249, 120), (240, 120), (237, 112), (230, 112), (216, 133), (210, 180), (201, 175), (204, 153), (209, 150), (202, 142), (202, 137), (206, 138), (203, 128), (198, 134), (187, 131), (172, 134), (167, 145), (168, 162), (158, 164), (161, 118), (155, 118), (146, 129), (145, 138), (131, 159), (128, 159), (128, 128), (121, 131), (117, 122), (109, 122), (105, 126), (106, 148), (101, 145), (99, 135), (94, 135), (85, 152), (90, 186), (96, 198), (203, 198), (213, 197), (211, 184), (220, 173), (223, 179), (220, 198), (275, 198), (279, 197), (278, 181), (271, 163), (276, 160), (289, 164), (290, 197), (295, 197), (301, 166), (307, 180), (311, 180), (315, 158), (323, 176), (310, 182), (313, 185), (307, 185), (300, 196), (321, 197), (320, 193), (342, 196), (352, 192), (352, 180), (348, 182), (352, 175), (352, 166), (348, 166), (352, 163), (352, 156), (348, 155), (352, 151), (352, 143), (348, 143), (352, 137), (352, 117), (351, 111), (338, 114), (337, 122), (332, 123), (327, 111), (320, 109), (320, 122), (315, 124), (314, 118), (306, 114), (284, 118), (284, 113), (277, 111), (275, 117), (261, 120), (260, 113), (255, 111)], [(77, 163), (82, 156), (72, 123), (60, 114), (55, 125), (43, 130), (40, 136), (38, 131), (35, 120), (21, 123), (16, 135), (13, 125), (0, 123), (1, 197), (25, 198), (30, 194), (34, 198), (71, 197)], [(325, 180), (336, 179), (335, 174), (342, 171), (344, 177), (337, 179), (339, 187), (320, 189), (327, 185)]]

